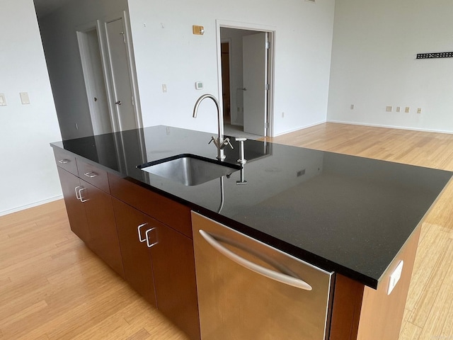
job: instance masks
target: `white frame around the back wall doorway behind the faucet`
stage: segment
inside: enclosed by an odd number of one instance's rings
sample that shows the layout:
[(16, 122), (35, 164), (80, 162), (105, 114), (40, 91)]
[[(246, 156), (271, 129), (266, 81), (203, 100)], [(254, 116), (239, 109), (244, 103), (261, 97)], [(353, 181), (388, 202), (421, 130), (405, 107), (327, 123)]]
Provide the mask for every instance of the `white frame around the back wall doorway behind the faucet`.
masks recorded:
[[(268, 112), (266, 115), (266, 122), (268, 127), (266, 128), (265, 137), (274, 136), (274, 95), (275, 95), (275, 26), (261, 25), (256, 23), (242, 23), (239, 21), (229, 21), (216, 19), (216, 41), (217, 41), (217, 79), (218, 79), (218, 93), (219, 103), (223, 106), (222, 101), (222, 51), (220, 43), (222, 38), (220, 37), (220, 28), (234, 28), (237, 30), (256, 30), (257, 32), (267, 32), (269, 37), (269, 54), (268, 54), (268, 81), (270, 89), (268, 92)], [(231, 65), (230, 65), (231, 66)], [(231, 69), (231, 68), (230, 68)], [(231, 86), (230, 86), (230, 101), (231, 101)]]

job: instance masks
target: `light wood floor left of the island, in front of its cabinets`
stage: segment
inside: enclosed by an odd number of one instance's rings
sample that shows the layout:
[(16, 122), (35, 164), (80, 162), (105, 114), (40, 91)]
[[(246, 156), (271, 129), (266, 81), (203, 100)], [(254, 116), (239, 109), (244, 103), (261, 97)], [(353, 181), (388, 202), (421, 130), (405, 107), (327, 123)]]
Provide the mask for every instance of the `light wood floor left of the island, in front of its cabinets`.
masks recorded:
[(0, 339), (188, 338), (71, 232), (58, 200), (0, 217)]

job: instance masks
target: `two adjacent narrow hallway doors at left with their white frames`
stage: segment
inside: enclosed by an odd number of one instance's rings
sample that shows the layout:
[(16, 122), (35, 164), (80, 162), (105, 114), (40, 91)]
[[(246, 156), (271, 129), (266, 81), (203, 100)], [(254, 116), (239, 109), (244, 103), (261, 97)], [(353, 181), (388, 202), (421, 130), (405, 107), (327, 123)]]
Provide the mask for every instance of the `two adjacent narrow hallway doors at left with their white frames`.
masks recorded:
[(128, 36), (124, 15), (77, 31), (95, 135), (142, 127)]

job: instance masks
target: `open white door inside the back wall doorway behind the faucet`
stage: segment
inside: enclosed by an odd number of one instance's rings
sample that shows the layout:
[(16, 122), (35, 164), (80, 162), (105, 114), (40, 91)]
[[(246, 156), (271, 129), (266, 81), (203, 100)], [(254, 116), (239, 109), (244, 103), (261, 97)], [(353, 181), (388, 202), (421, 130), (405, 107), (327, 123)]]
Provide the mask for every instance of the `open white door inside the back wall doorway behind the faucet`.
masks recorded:
[(243, 48), (243, 130), (265, 136), (268, 113), (268, 33), (245, 35)]

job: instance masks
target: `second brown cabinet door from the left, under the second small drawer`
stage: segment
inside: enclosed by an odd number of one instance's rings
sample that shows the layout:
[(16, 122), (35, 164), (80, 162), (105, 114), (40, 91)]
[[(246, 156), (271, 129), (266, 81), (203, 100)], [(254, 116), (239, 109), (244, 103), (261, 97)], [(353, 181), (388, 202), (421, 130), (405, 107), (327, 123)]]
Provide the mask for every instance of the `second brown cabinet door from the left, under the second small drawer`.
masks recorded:
[(124, 278), (112, 198), (86, 181), (80, 180), (80, 183), (91, 249)]

